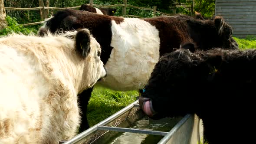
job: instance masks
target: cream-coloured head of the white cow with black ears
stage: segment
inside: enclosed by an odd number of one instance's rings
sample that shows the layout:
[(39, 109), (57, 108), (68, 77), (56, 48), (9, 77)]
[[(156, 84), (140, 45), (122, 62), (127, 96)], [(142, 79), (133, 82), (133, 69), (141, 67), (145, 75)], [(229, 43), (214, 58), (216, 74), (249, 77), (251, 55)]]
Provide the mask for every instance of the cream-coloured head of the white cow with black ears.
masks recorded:
[[(74, 50), (76, 55), (70, 54), (76, 65), (82, 67), (79, 72), (82, 78), (77, 82), (82, 82), (79, 91), (82, 92), (86, 88), (92, 87), (98, 80), (106, 76), (106, 70), (100, 59), (101, 47), (96, 39), (92, 36), (88, 29), (78, 29), (75, 31), (62, 31), (55, 34), (49, 32), (45, 28), (40, 28), (39, 36), (64, 36), (74, 41)], [(79, 75), (79, 74), (74, 74)]]

